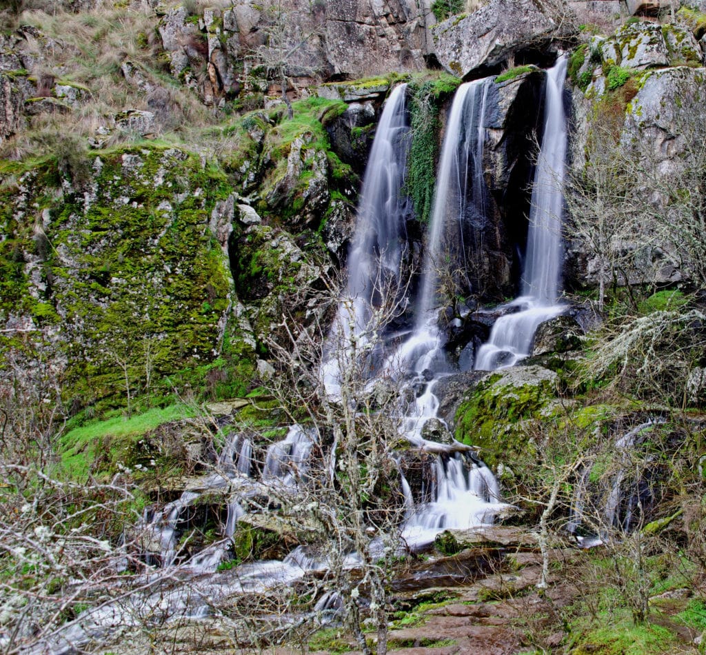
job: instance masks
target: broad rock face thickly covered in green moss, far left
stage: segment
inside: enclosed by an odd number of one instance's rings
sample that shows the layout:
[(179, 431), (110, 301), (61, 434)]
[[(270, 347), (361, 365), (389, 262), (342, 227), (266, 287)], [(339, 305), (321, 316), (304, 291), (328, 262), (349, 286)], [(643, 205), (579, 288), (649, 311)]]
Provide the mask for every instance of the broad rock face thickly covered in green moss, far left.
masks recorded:
[(48, 348), (80, 405), (152, 392), (217, 359), (234, 305), (209, 227), (232, 192), (225, 174), (162, 145), (3, 173), (0, 357), (22, 351), (30, 366)]

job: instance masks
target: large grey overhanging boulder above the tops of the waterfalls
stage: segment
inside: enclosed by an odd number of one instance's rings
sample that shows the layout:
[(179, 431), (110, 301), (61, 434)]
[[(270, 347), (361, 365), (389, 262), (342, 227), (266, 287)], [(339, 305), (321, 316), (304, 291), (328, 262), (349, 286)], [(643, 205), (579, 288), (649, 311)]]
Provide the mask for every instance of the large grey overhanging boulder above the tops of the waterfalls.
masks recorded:
[(568, 8), (560, 15), (532, 0), (490, 0), (473, 13), (434, 25), (431, 33), (443, 67), (465, 78), (525, 52), (552, 49), (574, 30)]

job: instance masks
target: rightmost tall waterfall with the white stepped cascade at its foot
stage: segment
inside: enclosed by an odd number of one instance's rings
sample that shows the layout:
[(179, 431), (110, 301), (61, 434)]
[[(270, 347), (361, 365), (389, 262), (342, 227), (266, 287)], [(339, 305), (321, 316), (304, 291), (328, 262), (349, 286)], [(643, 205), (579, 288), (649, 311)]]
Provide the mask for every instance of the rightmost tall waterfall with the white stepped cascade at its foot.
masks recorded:
[(561, 217), (566, 167), (566, 114), (563, 90), (566, 55), (546, 73), (544, 136), (532, 184), (530, 231), (522, 274), (522, 295), (507, 308), (514, 313), (496, 320), (486, 344), (478, 351), (475, 368), (493, 371), (513, 366), (530, 354), (534, 332), (540, 323), (558, 316), (561, 277)]

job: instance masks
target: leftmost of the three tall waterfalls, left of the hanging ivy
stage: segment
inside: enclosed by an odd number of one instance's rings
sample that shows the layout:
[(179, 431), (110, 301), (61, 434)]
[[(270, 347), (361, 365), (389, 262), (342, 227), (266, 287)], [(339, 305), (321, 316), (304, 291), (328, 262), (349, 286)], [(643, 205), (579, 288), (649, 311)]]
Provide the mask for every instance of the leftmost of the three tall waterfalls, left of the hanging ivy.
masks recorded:
[[(409, 199), (402, 193), (409, 152), (407, 85), (393, 90), (376, 129), (348, 253), (345, 297), (328, 337), (321, 375), (329, 395), (340, 395), (341, 368), (365, 352), (374, 365), (380, 353), (367, 352), (385, 328), (390, 305), (402, 302), (402, 268), (407, 251)], [(383, 316), (381, 316), (381, 313)], [(371, 368), (375, 368), (371, 366)]]

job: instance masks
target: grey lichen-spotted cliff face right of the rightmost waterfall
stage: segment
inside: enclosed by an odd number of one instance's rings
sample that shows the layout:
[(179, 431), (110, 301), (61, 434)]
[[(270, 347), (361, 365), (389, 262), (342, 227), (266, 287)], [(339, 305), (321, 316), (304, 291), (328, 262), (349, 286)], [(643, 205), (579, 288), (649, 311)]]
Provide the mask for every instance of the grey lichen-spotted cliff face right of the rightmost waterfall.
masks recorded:
[[(636, 200), (624, 206), (636, 209), (619, 219), (615, 212), (601, 217), (604, 253), (588, 243), (590, 229), (568, 229), (569, 284), (605, 282), (611, 261), (618, 262), (618, 284), (686, 282), (700, 270), (700, 251), (687, 242), (700, 237), (674, 189), (692, 188), (702, 166), (696, 145), (706, 121), (702, 56), (688, 21), (628, 23), (575, 54), (574, 171), (587, 161), (594, 167), (622, 162), (618, 170), (629, 176), (614, 176), (611, 186), (621, 185), (621, 195)], [(680, 224), (683, 229), (670, 227)]]

